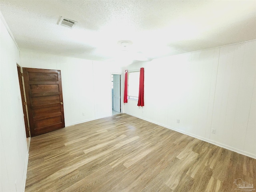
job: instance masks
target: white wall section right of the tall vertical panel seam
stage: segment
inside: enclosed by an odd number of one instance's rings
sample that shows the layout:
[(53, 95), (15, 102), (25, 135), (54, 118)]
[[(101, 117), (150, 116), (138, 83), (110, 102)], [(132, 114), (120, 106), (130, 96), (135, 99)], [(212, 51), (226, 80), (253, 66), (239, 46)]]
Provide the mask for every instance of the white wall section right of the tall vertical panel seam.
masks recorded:
[(220, 49), (210, 139), (256, 156), (256, 42)]

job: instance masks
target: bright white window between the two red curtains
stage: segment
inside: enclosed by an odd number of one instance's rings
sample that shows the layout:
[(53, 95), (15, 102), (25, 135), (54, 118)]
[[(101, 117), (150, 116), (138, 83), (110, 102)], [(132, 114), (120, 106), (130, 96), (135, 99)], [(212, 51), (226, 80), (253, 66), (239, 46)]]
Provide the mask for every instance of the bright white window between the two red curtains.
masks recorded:
[(128, 72), (128, 99), (139, 99), (140, 72)]

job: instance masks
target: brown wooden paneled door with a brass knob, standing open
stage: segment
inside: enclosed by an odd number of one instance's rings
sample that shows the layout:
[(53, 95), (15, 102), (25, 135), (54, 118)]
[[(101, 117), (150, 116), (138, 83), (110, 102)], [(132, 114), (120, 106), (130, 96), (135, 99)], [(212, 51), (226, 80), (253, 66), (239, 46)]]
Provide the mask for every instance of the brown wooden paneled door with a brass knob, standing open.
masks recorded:
[(60, 70), (23, 68), (31, 136), (65, 127)]

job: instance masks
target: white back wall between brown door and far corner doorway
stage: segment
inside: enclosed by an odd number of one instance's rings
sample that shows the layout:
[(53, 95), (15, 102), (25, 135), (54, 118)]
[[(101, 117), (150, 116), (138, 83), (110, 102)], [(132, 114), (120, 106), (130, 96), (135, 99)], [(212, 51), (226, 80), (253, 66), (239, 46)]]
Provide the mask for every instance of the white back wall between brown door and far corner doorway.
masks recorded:
[(22, 67), (61, 70), (65, 126), (112, 115), (111, 72), (120, 67), (24, 51), (20, 59)]

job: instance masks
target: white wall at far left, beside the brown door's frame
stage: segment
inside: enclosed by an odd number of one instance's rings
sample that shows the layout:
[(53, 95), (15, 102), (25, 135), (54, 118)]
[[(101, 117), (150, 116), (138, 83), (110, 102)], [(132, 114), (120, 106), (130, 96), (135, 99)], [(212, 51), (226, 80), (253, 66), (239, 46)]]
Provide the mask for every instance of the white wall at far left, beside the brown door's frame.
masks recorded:
[(17, 73), (19, 50), (0, 21), (0, 191), (24, 191), (28, 149)]

